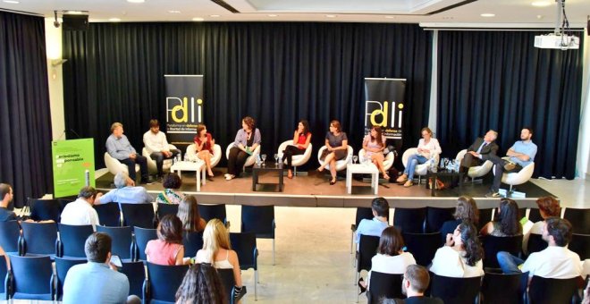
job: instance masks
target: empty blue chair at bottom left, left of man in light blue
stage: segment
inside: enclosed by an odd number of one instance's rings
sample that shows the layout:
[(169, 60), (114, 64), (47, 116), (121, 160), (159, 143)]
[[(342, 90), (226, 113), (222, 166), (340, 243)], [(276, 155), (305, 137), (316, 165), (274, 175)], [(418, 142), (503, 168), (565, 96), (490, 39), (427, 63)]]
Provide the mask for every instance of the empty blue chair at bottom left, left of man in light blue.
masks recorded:
[(55, 276), (48, 256), (10, 256), (10, 264), (11, 299), (54, 300)]

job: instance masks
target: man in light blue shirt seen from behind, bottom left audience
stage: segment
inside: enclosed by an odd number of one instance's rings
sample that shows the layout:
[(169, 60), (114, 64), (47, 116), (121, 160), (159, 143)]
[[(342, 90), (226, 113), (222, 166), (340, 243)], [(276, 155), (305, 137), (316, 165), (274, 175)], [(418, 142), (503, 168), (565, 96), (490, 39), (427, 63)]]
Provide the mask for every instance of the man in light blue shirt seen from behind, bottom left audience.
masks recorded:
[(84, 244), (88, 263), (72, 266), (63, 283), (63, 303), (141, 303), (129, 294), (127, 275), (110, 263), (113, 241), (106, 233), (94, 232)]

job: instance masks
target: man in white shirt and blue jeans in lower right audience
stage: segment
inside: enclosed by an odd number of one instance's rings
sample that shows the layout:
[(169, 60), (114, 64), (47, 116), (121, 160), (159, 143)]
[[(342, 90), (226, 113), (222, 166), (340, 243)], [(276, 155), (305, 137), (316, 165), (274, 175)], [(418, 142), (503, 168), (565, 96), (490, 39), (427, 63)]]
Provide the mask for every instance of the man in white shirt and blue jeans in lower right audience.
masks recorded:
[(529, 282), (533, 275), (549, 279), (571, 279), (582, 274), (582, 263), (576, 252), (567, 248), (571, 241), (571, 224), (559, 217), (545, 219), (543, 233), (548, 247), (531, 253), (526, 261), (506, 251), (498, 252), (498, 264), (504, 274), (528, 272)]

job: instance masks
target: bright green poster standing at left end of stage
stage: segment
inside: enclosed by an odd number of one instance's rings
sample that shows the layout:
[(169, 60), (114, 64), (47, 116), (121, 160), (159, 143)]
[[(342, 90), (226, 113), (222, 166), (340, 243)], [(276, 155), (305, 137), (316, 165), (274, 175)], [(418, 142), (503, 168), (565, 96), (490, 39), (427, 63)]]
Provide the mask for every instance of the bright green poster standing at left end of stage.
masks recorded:
[(54, 165), (54, 197), (77, 195), (82, 187), (95, 187), (94, 139), (71, 139), (51, 142)]

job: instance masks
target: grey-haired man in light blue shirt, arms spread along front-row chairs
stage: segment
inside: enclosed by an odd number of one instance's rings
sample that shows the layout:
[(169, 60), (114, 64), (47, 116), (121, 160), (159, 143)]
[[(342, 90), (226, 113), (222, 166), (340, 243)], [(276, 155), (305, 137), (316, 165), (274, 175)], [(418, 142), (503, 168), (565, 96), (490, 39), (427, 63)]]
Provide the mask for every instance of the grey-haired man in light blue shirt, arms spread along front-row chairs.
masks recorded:
[(134, 187), (134, 182), (125, 173), (114, 175), (114, 187), (116, 189), (108, 191), (101, 198), (97, 198), (95, 204), (105, 204), (117, 202), (120, 204), (143, 204), (154, 201), (147, 190), (143, 187)]

